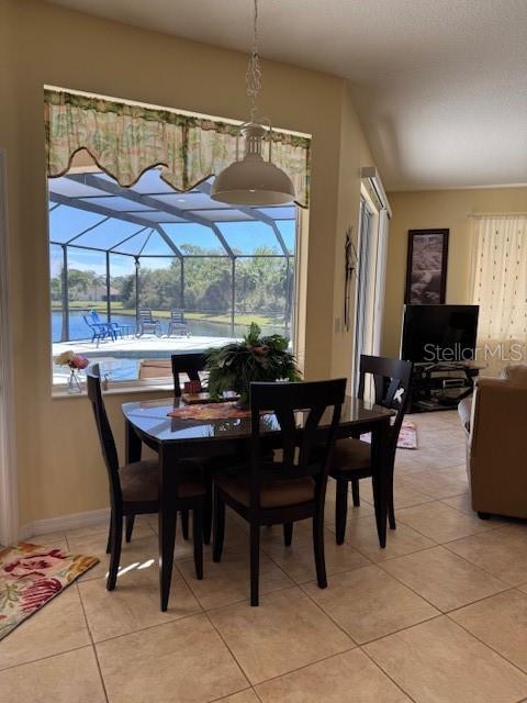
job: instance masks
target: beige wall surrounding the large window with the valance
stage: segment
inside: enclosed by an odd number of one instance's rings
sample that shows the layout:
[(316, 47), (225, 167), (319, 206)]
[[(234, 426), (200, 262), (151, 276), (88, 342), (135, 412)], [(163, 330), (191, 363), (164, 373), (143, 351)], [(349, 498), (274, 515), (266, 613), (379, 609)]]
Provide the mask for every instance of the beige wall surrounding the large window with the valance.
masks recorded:
[[(43, 86), (244, 119), (247, 56), (40, 2), (0, 0), (0, 13), (9, 35), (0, 42), (11, 78), (0, 83), (0, 146), (8, 154), (14, 419), (21, 523), (27, 523), (108, 504), (87, 401), (51, 399)], [(348, 375), (350, 337), (334, 335), (333, 320), (341, 316), (334, 271), (340, 277), (344, 231), (358, 216), (359, 167), (370, 157), (341, 79), (272, 62), (262, 68), (261, 113), (313, 135), (306, 377)], [(123, 400), (109, 398), (120, 439)]]

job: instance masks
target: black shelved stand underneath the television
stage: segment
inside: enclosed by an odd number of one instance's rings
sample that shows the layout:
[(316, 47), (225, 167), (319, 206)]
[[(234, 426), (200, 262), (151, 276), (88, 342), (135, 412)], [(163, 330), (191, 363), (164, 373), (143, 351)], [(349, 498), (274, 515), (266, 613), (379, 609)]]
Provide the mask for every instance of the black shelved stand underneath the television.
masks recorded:
[(473, 361), (414, 364), (408, 412), (455, 410), (472, 393), (474, 379), (482, 368)]

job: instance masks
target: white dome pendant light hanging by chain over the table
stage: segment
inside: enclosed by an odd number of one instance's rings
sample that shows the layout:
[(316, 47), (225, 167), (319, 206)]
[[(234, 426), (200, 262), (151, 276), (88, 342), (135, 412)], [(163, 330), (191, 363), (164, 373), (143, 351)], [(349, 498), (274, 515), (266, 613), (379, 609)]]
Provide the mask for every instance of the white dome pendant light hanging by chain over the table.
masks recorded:
[[(283, 205), (295, 198), (289, 176), (271, 160), (272, 126), (269, 120), (258, 119), (257, 99), (261, 87), (261, 69), (258, 55), (258, 0), (254, 0), (254, 40), (247, 68), (247, 96), (250, 120), (239, 127), (236, 136), (236, 160), (214, 180), (212, 200), (229, 205)], [(239, 135), (245, 138), (244, 158), (238, 157)], [(269, 160), (265, 160), (265, 138), (269, 141)]]

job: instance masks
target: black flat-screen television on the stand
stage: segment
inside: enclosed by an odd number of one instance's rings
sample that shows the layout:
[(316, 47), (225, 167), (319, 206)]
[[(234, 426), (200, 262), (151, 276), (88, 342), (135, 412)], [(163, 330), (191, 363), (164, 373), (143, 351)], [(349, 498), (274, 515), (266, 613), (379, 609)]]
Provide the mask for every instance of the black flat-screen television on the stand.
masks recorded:
[(401, 358), (416, 364), (473, 360), (479, 312), (479, 305), (405, 305)]

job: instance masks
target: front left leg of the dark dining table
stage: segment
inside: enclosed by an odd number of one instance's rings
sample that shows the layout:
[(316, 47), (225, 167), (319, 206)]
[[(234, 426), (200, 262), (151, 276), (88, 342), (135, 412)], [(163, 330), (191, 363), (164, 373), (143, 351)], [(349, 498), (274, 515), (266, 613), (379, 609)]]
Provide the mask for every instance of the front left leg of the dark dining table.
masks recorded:
[(176, 471), (175, 457), (168, 447), (159, 449), (159, 591), (161, 611), (168, 607), (176, 544)]

